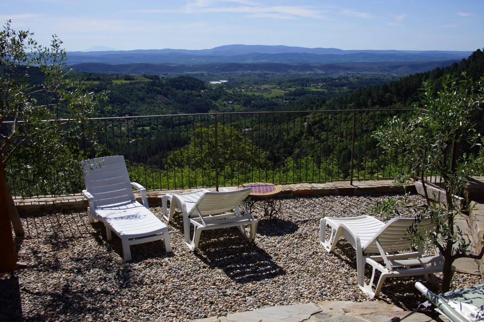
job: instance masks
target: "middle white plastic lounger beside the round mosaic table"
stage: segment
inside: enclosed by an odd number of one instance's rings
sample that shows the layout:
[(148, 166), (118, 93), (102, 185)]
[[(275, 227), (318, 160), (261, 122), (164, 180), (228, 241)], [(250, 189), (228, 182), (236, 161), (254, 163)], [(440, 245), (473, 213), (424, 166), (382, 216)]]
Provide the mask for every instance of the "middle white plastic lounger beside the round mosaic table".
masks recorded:
[[(242, 235), (250, 242), (256, 239), (257, 220), (253, 219), (243, 200), (250, 194), (251, 188), (212, 192), (197, 190), (193, 192), (168, 194), (162, 197), (163, 214), (171, 221), (176, 206), (183, 212), (183, 230), (185, 243), (192, 251), (198, 249), (200, 234), (203, 230), (239, 226)], [(170, 202), (170, 213), (167, 215), (166, 204)], [(241, 214), (239, 205), (245, 212)], [(190, 239), (190, 224), (194, 225), (193, 238)], [(249, 235), (244, 225), (250, 225)]]

